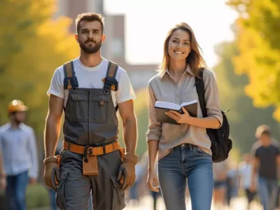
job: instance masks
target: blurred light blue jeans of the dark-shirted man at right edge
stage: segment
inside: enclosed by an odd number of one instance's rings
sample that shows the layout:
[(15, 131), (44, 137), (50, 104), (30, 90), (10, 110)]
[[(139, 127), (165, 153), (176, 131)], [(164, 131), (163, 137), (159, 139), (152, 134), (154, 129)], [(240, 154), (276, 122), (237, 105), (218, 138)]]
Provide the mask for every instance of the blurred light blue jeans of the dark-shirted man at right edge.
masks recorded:
[(264, 210), (274, 210), (277, 197), (277, 180), (267, 179), (265, 177), (258, 178), (260, 201)]

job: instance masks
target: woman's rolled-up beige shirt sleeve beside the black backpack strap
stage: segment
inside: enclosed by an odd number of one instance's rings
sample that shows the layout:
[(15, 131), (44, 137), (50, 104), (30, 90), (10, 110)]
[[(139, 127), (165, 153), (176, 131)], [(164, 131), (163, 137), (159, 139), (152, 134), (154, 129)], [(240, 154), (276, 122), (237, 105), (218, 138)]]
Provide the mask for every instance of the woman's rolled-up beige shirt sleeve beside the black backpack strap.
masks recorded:
[(223, 124), (223, 115), (221, 113), (221, 105), (218, 97), (218, 86), (214, 73), (212, 71), (204, 71), (203, 79), (205, 85), (205, 102), (207, 114), (210, 117), (215, 117), (219, 120), (220, 127)]

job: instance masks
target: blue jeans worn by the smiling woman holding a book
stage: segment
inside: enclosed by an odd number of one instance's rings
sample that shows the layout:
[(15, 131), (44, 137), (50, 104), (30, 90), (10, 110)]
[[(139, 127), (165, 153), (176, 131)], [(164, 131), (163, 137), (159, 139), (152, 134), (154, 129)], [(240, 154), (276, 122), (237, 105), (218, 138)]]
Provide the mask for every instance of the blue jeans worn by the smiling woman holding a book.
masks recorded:
[(158, 161), (158, 179), (167, 210), (186, 210), (186, 178), (193, 210), (210, 210), (213, 193), (211, 155), (182, 144)]

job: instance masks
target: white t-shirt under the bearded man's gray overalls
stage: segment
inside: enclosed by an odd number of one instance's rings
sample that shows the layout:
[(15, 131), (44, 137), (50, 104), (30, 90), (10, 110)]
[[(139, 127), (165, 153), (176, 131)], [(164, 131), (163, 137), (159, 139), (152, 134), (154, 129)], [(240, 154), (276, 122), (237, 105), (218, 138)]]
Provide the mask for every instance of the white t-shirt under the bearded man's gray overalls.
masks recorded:
[[(102, 57), (102, 62), (94, 67), (87, 67), (83, 65), (79, 58), (74, 59), (73, 66), (78, 79), (78, 87), (103, 88), (104, 82), (102, 79), (106, 77), (108, 64), (109, 61), (104, 59), (104, 57)], [(120, 66), (118, 66), (116, 80), (118, 80), (118, 91), (111, 91), (114, 106), (130, 99), (136, 99), (132, 84), (130, 83), (130, 78), (128, 77), (125, 69), (121, 68)], [(63, 66), (59, 66), (52, 76), (52, 81), (47, 94), (54, 94), (55, 96), (64, 99), (65, 107), (69, 90), (64, 90), (63, 82), (64, 70)]]

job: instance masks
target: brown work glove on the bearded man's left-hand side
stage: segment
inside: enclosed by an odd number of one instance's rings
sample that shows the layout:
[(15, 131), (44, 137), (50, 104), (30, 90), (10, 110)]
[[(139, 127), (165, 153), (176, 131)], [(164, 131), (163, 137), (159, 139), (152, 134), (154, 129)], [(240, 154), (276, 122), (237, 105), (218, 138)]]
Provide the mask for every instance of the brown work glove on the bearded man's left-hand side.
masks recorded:
[(57, 191), (57, 183), (59, 182), (59, 166), (57, 165), (57, 157), (52, 156), (45, 158), (43, 161), (45, 172), (43, 178), (48, 188)]

